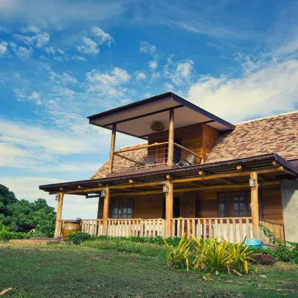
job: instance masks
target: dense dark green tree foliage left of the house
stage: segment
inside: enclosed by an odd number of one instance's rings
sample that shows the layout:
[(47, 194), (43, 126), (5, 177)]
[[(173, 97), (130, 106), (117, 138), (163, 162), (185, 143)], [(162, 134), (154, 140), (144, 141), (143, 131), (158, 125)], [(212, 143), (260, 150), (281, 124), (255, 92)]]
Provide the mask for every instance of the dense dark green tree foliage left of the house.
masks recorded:
[(12, 191), (0, 184), (0, 223), (13, 226), (14, 231), (33, 231), (37, 236), (52, 237), (55, 221), (55, 209), (48, 206), (46, 200), (19, 201)]

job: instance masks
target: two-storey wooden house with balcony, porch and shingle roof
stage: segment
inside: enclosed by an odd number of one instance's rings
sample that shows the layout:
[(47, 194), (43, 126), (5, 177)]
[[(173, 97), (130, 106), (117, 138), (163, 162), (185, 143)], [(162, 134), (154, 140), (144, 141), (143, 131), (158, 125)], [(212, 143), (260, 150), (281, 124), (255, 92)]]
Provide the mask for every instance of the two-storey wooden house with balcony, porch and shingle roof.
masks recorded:
[[(232, 125), (167, 92), (88, 119), (111, 130), (110, 158), (90, 179), (39, 187), (58, 194), (56, 237), (73, 194), (99, 198), (91, 234), (239, 242), (263, 224), (298, 241), (298, 111)], [(115, 149), (117, 133), (142, 142)]]

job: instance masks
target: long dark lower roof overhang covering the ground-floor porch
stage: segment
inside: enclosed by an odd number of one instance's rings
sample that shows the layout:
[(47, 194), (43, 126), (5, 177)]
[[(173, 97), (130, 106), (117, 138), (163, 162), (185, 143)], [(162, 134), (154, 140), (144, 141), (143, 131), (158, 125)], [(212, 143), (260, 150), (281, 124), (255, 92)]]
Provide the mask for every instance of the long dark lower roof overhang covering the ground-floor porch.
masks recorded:
[[(285, 160), (278, 154), (264, 154), (259, 156), (253, 156), (248, 158), (240, 158), (233, 159), (221, 162), (214, 163), (206, 163), (202, 165), (193, 165), (189, 167), (181, 167), (181, 168), (173, 168), (173, 169), (164, 169), (154, 172), (148, 173), (140, 173), (140, 174), (127, 174), (125, 176), (111, 177), (111, 178), (101, 178), (101, 179), (88, 179), (88, 180), (80, 180), (80, 181), (72, 181), (65, 183), (56, 183), (56, 184), (48, 184), (48, 185), (40, 185), (39, 189), (44, 190), (46, 192), (55, 193), (55, 192), (65, 192), (75, 191), (77, 195), (87, 195), (88, 193), (96, 193), (96, 192), (88, 192), (84, 189), (90, 189), (98, 187), (99, 184), (105, 185), (109, 184), (109, 186), (114, 185), (123, 185), (129, 184), (129, 179), (140, 179), (143, 182), (152, 182), (159, 181), (164, 179), (165, 175), (171, 174), (175, 177), (175, 179), (180, 178), (189, 178), (189, 177), (197, 177), (198, 171), (205, 171), (209, 175), (221, 174), (221, 173), (234, 173), (238, 172), (239, 175), (237, 177), (229, 178), (232, 183), (248, 183), (248, 179), (246, 175), (241, 175), (236, 169), (237, 165), (241, 165), (249, 171), (258, 171), (263, 170), (261, 177), (263, 180), (274, 181), (276, 179), (282, 178), (291, 178), (297, 179), (298, 176), (298, 168), (292, 165), (289, 161)], [(274, 172), (272, 169), (279, 169), (282, 167), (282, 171)], [(268, 173), (266, 174), (266, 169), (268, 169)], [(243, 172), (244, 173), (244, 172)], [(231, 175), (232, 176), (232, 175)], [(220, 185), (222, 182), (217, 179), (209, 179), (204, 181), (204, 186), (208, 185)], [(184, 184), (176, 185), (175, 187), (181, 187)], [(187, 186), (187, 184), (185, 184)], [(248, 184), (247, 184), (248, 185)], [(189, 186), (189, 185), (188, 185)], [(80, 188), (80, 189), (79, 189)], [(132, 186), (133, 188), (133, 186)], [(150, 190), (151, 188), (142, 188), (143, 190)], [(100, 193), (100, 192), (98, 192)]]

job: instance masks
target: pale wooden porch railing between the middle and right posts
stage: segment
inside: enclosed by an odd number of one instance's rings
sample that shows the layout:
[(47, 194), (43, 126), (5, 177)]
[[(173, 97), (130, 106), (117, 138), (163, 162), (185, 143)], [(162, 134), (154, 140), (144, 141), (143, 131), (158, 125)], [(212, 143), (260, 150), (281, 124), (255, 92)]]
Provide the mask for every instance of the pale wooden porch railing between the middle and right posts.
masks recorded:
[(253, 238), (252, 218), (172, 219), (172, 235), (181, 237), (184, 233), (200, 235), (203, 239), (223, 238), (228, 242), (241, 242), (244, 237)]

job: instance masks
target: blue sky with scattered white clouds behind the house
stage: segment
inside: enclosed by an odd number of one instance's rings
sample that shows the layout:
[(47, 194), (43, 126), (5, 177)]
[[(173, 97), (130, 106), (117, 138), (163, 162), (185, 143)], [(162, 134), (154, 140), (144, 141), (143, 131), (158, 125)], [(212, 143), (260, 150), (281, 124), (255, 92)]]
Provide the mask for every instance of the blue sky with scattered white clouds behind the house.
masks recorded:
[[(0, 0), (0, 183), (56, 207), (39, 185), (108, 159), (86, 117), (166, 91), (231, 123), (297, 110), (297, 15), (295, 0)], [(96, 212), (65, 196), (64, 219)]]

